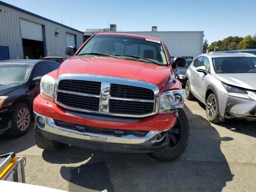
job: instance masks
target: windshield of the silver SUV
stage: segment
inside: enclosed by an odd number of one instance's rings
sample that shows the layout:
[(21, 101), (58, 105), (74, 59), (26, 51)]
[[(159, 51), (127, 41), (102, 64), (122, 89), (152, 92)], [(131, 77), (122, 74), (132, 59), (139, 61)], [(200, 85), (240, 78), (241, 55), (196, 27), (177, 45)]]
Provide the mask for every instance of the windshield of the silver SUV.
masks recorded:
[(256, 73), (256, 57), (212, 58), (216, 73)]

